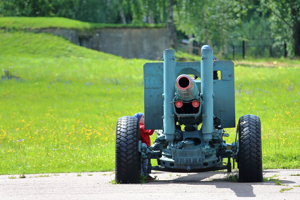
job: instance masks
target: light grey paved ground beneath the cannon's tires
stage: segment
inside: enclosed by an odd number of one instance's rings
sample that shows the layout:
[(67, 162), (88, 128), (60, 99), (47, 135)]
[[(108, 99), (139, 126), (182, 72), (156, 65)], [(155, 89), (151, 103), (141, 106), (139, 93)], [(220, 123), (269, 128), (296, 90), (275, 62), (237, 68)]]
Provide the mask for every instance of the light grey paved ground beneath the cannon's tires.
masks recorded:
[[(88, 176), (88, 174), (93, 174)], [(0, 199), (271, 199), (299, 200), (300, 169), (268, 169), (264, 177), (279, 175), (287, 186), (264, 183), (232, 183), (222, 180), (223, 172), (170, 173), (157, 172), (158, 181), (146, 184), (111, 184), (114, 172), (49, 174), (49, 177), (26, 175), (9, 179), (0, 176)], [(44, 174), (45, 175), (45, 174)], [(283, 188), (294, 189), (280, 193)]]

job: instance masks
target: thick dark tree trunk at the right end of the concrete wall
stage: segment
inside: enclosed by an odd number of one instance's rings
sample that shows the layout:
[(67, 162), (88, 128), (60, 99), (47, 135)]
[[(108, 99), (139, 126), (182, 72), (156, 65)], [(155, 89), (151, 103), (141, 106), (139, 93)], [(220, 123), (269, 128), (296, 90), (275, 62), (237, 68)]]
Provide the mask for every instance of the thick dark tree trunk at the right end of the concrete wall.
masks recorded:
[(173, 20), (173, 5), (176, 0), (169, 0), (169, 10), (168, 10), (168, 20), (167, 20), (167, 29), (169, 30), (170, 38), (170, 47), (177, 50), (177, 34)]

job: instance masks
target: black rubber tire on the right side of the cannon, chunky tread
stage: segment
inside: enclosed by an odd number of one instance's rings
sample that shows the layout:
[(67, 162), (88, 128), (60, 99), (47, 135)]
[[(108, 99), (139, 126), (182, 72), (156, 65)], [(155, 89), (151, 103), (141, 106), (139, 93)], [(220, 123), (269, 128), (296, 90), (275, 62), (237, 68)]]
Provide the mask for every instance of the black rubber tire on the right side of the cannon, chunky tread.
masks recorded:
[(256, 115), (244, 115), (238, 124), (238, 182), (263, 182), (260, 119)]

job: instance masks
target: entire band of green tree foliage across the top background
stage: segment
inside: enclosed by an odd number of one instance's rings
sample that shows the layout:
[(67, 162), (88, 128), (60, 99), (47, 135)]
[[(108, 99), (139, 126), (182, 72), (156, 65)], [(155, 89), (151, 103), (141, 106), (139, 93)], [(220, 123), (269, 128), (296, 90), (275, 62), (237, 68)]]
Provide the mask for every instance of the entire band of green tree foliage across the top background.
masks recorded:
[[(134, 24), (134, 27), (140, 27), (136, 24), (143, 23), (162, 24), (155, 27), (167, 25), (169, 28), (173, 24), (173, 15), (178, 31), (182, 31), (190, 40), (214, 46), (221, 57), (223, 53), (228, 55), (231, 44), (237, 46), (241, 45), (242, 40), (271, 36), (274, 39), (267, 40), (268, 45), (274, 44), (277, 47), (286, 43), (288, 55), (293, 57), (294, 54), (300, 56), (299, 2), (300, 0), (0, 0), (0, 17), (55, 16), (92, 23)], [(114, 27), (99, 24), (88, 26)], [(170, 41), (171, 46), (176, 48), (173, 29), (170, 28)], [(261, 44), (261, 40), (259, 43)], [(257, 41), (249, 45), (257, 45)]]

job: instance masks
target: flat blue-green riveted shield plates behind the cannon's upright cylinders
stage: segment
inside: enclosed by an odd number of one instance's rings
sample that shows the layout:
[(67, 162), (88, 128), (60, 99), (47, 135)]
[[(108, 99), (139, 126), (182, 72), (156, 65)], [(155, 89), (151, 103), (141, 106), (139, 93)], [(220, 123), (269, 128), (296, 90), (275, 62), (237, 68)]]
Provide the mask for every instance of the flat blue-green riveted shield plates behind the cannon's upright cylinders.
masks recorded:
[[(200, 62), (177, 62), (176, 75), (194, 74), (200, 76)], [(221, 118), (221, 128), (235, 127), (235, 93), (234, 93), (234, 64), (232, 61), (214, 62), (214, 71), (230, 71), (230, 80), (220, 77), (213, 80), (214, 91), (214, 116)], [(164, 87), (163, 87), (163, 62), (144, 64), (144, 102), (145, 102), (145, 127), (146, 129), (161, 129), (164, 115)], [(228, 76), (229, 77), (229, 76)], [(201, 88), (201, 80), (194, 80)], [(175, 84), (174, 84), (175, 85)], [(201, 92), (201, 91), (200, 91)]]

